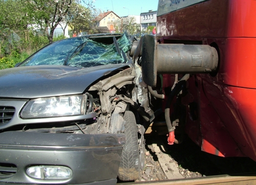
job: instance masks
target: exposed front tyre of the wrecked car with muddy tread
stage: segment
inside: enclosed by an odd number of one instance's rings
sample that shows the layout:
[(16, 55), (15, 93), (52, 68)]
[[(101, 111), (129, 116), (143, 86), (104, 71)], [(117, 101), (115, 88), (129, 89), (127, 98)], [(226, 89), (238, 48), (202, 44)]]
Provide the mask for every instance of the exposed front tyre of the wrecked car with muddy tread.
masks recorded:
[(123, 181), (131, 181), (138, 179), (140, 174), (138, 129), (132, 111), (125, 111), (123, 119), (126, 122), (124, 129), (126, 142), (123, 146), (118, 178)]

